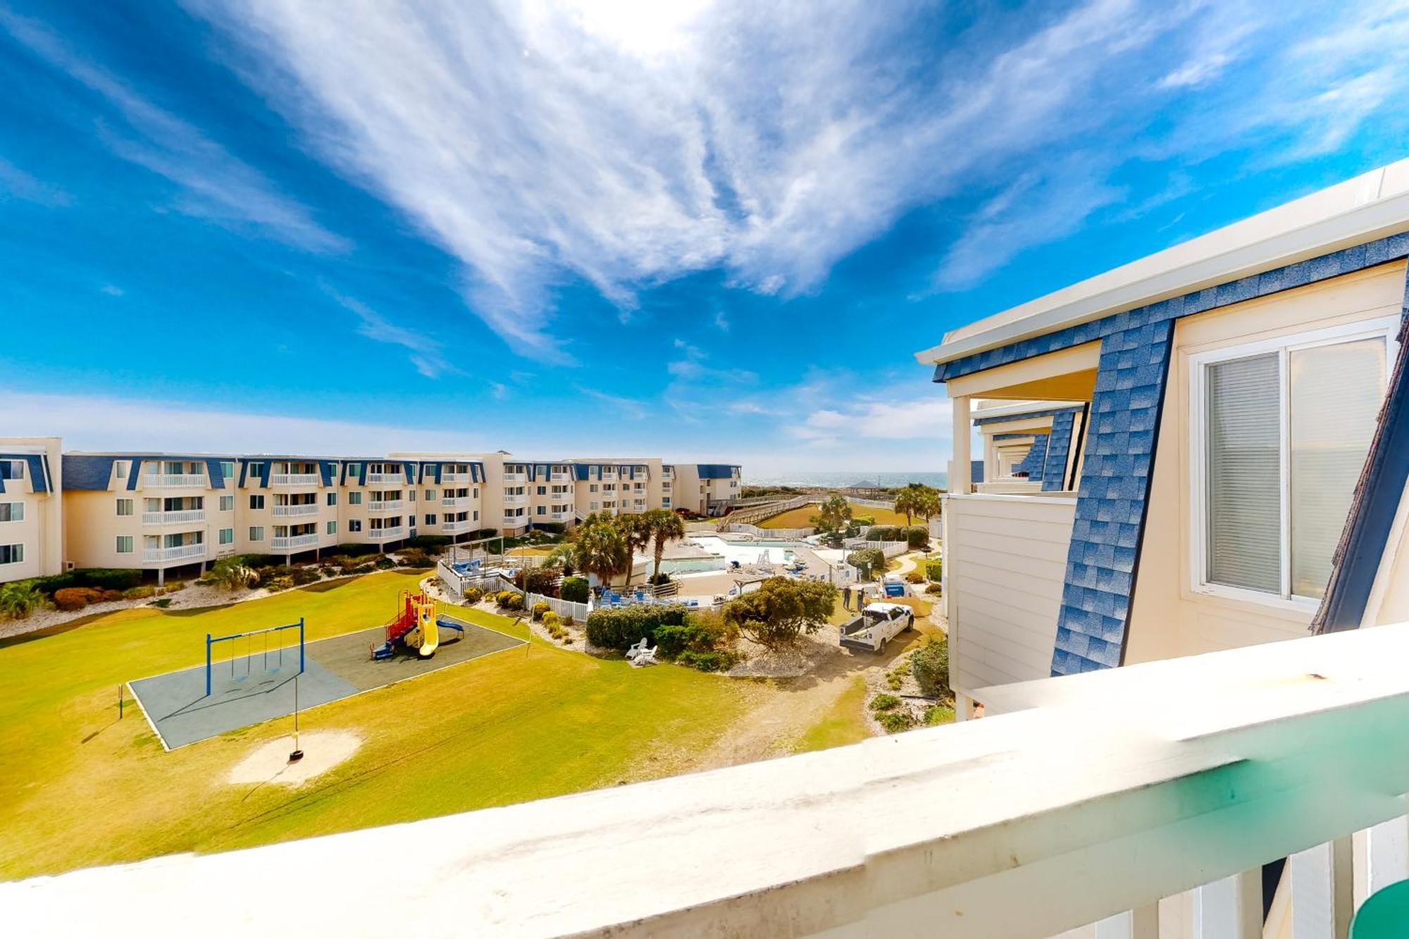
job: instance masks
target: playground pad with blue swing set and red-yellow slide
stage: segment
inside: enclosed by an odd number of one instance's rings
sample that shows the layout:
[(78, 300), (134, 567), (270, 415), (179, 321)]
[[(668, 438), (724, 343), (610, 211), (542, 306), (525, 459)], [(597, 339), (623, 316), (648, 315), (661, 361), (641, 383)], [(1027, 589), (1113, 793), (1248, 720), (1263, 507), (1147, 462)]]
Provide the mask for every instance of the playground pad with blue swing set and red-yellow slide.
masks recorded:
[[(296, 705), (314, 708), (524, 644), (521, 639), (437, 615), (434, 603), (421, 598), (426, 629), (435, 636), (407, 646), (399, 640), (418, 629), (414, 620), (420, 608), (410, 608), (409, 595), (400, 602), (407, 612), (387, 626), (313, 643), (304, 642), (302, 620), (231, 636), (207, 636), (206, 665), (139, 678), (128, 685), (162, 744), (172, 750), (292, 715)], [(413, 620), (410, 627), (406, 627), (407, 619)], [(421, 651), (426, 646), (433, 654)]]

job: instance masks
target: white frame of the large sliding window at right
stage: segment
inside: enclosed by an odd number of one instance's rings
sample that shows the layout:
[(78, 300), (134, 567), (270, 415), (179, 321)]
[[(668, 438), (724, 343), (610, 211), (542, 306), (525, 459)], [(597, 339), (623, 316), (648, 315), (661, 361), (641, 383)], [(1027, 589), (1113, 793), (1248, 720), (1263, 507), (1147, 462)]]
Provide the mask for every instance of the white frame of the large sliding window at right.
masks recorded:
[[(1339, 343), (1353, 343), (1365, 338), (1385, 340), (1385, 378), (1394, 369), (1395, 357), (1399, 354), (1401, 319), (1385, 316), (1358, 323), (1344, 323), (1320, 330), (1308, 330), (1278, 336), (1275, 338), (1255, 340), (1239, 345), (1210, 350), (1189, 355), (1189, 591), (1202, 596), (1217, 596), (1223, 599), (1243, 601), (1271, 606), (1281, 610), (1313, 615), (1320, 606), (1320, 598), (1298, 596), (1292, 594), (1292, 501), (1291, 501), (1291, 410), (1288, 407), (1289, 371), (1288, 358), (1291, 352), (1319, 345), (1334, 345)], [(1281, 416), (1281, 592), (1270, 594), (1247, 587), (1230, 587), (1227, 584), (1212, 584), (1208, 577), (1209, 556), (1209, 516), (1208, 516), (1208, 367), (1217, 362), (1227, 362), (1239, 358), (1251, 358), (1278, 354), (1278, 413)]]

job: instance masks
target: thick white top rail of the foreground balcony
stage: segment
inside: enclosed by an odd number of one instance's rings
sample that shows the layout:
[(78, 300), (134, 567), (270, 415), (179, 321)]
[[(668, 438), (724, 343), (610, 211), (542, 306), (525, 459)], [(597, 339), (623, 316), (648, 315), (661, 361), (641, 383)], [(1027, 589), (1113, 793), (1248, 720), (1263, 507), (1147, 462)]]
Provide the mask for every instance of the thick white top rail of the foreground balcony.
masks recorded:
[[(7, 883), (0, 908), (27, 935), (137, 935), (152, 897), (194, 933), (258, 891), (307, 935), (1051, 936), (1401, 815), (1406, 657), (1398, 625), (1027, 682), (1017, 713)], [(379, 902), (344, 902), (368, 870)]]

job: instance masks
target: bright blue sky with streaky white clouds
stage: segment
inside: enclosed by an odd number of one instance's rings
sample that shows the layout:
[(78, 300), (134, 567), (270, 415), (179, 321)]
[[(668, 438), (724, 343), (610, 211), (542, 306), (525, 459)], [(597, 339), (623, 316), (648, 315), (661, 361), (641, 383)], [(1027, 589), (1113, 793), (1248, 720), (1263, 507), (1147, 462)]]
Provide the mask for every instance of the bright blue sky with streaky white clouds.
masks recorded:
[(0, 433), (938, 470), (912, 352), (1405, 156), (1406, 48), (1405, 3), (0, 0)]

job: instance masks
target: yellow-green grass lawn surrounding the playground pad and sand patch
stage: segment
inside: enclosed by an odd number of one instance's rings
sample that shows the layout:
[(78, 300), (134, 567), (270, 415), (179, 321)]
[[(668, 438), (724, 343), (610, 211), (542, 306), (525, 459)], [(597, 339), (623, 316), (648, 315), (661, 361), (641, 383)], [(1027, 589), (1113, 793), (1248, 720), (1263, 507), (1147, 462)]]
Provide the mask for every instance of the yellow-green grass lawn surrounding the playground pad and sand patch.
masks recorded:
[[(531, 642), (304, 712), (356, 754), (311, 782), (225, 774), (285, 719), (166, 753), (118, 684), (204, 661), (206, 633), (294, 622), (310, 640), (385, 623), (423, 572), (318, 584), (207, 610), (137, 608), (0, 640), (0, 877), (404, 822), (664, 775), (750, 706), (740, 684), (633, 670)], [(180, 595), (176, 595), (179, 602)], [(519, 637), (516, 620), (454, 608)]]

